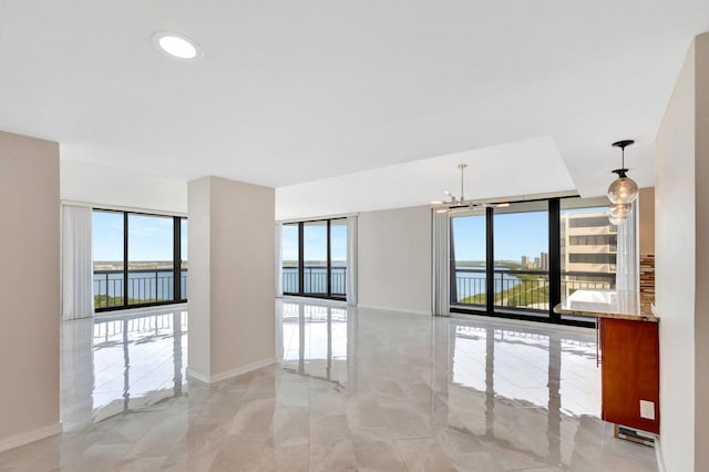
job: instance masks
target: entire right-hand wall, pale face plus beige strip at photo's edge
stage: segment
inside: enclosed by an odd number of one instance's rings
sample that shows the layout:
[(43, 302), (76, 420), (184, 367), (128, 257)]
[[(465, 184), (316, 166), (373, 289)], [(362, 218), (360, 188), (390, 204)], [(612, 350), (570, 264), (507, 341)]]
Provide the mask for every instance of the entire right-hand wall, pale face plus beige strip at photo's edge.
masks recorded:
[[(708, 470), (706, 442), (696, 429), (706, 428), (707, 373), (699, 355), (706, 350), (709, 229), (701, 187), (709, 175), (700, 170), (699, 138), (709, 133), (709, 106), (697, 101), (697, 91), (709, 86), (699, 76), (709, 64), (708, 35), (698, 37), (687, 55), (656, 142), (655, 260), (656, 306), (660, 315), (660, 439), (668, 471)], [(702, 51), (703, 57), (699, 53)], [(700, 62), (702, 62), (701, 65)], [(706, 71), (705, 71), (706, 74)], [(702, 137), (703, 138), (703, 137)], [(705, 143), (706, 143), (706, 138)], [(703, 156), (706, 157), (706, 148)], [(706, 158), (705, 158), (706, 161)], [(705, 164), (706, 166), (706, 164)], [(706, 170), (705, 170), (706, 171)], [(701, 235), (703, 237), (699, 237)], [(701, 353), (706, 356), (705, 353)], [(697, 363), (696, 363), (697, 361)], [(703, 367), (706, 369), (706, 367)], [(702, 380), (702, 382), (696, 380)], [(701, 407), (701, 408), (698, 408)]]

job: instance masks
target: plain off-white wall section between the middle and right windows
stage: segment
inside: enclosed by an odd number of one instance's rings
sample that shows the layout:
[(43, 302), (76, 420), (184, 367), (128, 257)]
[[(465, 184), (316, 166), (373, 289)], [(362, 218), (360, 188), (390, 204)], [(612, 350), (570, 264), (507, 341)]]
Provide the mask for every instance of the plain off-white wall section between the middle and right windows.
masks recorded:
[(431, 312), (431, 209), (358, 216), (358, 305)]

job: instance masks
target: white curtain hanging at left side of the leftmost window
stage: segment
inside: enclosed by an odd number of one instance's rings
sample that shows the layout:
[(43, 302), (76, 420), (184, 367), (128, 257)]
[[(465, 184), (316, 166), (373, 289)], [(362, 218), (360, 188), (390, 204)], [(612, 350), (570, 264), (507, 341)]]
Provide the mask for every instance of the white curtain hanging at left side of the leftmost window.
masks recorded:
[(62, 319), (93, 316), (91, 208), (62, 209)]

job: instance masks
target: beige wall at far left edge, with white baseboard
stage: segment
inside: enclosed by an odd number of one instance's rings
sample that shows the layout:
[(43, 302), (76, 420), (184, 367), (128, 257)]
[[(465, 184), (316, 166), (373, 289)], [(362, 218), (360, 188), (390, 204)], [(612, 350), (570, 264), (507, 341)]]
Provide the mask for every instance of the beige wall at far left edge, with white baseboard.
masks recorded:
[(59, 144), (0, 132), (0, 445), (61, 428), (59, 208)]

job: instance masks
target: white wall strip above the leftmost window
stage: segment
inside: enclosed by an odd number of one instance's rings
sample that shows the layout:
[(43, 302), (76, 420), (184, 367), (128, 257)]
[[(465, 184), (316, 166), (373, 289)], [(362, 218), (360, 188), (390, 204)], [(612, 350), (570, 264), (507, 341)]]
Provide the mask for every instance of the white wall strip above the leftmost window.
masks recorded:
[(60, 167), (63, 201), (187, 213), (186, 182), (76, 161), (61, 161)]

